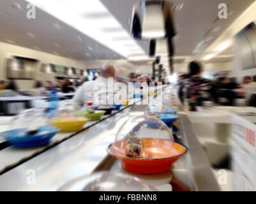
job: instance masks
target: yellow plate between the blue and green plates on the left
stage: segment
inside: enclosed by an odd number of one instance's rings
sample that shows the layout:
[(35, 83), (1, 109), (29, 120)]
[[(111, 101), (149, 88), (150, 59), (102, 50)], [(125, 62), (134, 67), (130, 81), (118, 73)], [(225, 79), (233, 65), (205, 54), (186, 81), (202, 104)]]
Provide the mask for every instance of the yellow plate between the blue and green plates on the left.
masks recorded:
[[(63, 121), (64, 120), (64, 121)], [(61, 132), (80, 131), (89, 119), (79, 119), (77, 121), (68, 121), (67, 119), (52, 119), (53, 126), (59, 128)]]

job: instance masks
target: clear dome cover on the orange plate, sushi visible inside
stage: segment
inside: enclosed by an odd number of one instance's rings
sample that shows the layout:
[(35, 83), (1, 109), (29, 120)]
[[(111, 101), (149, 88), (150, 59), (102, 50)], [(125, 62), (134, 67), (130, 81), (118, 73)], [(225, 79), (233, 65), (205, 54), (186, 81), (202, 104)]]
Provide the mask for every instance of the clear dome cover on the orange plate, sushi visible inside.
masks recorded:
[(116, 135), (112, 152), (123, 157), (156, 159), (175, 155), (172, 131), (162, 120), (142, 115), (124, 122)]

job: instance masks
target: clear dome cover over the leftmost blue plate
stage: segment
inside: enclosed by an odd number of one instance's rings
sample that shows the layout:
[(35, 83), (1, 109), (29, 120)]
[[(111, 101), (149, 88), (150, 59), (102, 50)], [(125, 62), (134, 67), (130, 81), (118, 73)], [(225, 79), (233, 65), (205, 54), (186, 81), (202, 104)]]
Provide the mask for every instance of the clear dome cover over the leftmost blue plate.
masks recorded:
[(10, 123), (9, 129), (38, 129), (48, 125), (47, 115), (39, 108), (31, 108), (20, 112)]

